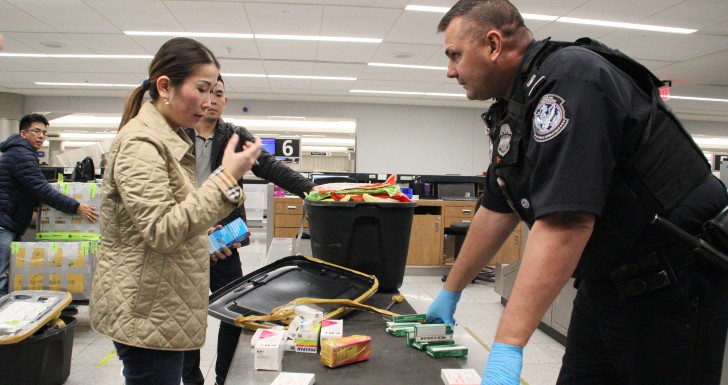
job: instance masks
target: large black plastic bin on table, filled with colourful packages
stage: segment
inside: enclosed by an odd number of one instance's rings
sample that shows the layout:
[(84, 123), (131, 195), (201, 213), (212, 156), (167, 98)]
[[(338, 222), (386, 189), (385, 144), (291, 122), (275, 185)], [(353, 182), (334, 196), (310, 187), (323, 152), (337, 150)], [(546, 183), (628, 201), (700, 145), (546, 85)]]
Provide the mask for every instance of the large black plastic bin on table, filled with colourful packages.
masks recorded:
[(373, 274), (380, 292), (402, 286), (417, 203), (303, 202), (314, 258)]

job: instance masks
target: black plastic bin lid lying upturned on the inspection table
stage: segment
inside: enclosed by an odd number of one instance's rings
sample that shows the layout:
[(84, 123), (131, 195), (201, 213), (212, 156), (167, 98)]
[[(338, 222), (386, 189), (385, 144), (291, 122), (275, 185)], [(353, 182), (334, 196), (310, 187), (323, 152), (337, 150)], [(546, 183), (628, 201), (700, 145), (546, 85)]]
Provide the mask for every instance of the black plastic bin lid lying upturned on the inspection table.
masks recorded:
[[(374, 276), (315, 258), (285, 257), (212, 293), (208, 313), (235, 324), (240, 316), (268, 315), (297, 298), (357, 300), (373, 294), (375, 285)], [(326, 314), (332, 309), (321, 310)]]

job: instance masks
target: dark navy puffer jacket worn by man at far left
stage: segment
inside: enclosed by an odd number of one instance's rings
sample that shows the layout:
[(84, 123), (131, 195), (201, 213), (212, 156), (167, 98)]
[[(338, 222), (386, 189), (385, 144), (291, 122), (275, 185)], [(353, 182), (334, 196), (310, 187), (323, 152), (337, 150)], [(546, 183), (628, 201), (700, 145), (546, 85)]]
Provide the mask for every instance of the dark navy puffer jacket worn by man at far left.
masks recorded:
[(69, 214), (78, 210), (78, 201), (48, 185), (35, 149), (25, 138), (11, 136), (0, 143), (0, 152), (0, 227), (25, 233), (40, 203)]

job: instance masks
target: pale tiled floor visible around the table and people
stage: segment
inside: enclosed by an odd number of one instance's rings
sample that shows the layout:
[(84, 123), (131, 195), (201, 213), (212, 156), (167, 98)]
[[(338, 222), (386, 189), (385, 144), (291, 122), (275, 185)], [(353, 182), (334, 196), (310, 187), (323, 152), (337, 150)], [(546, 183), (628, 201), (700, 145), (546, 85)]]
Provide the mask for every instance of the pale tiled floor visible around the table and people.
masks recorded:
[[(250, 272), (262, 266), (265, 258), (265, 231), (253, 229), (253, 243), (240, 249), (243, 271)], [(424, 312), (432, 298), (442, 287), (440, 276), (405, 276), (400, 292), (418, 312)], [(121, 363), (109, 339), (96, 334), (89, 326), (88, 307), (78, 308), (71, 375), (68, 385), (123, 384)], [(457, 321), (472, 331), (488, 347), (493, 343), (503, 306), (492, 283), (472, 284), (462, 296), (456, 312)], [(209, 318), (207, 342), (202, 349), (202, 371), (205, 384), (214, 384), (214, 362), (219, 321)], [(547, 335), (537, 331), (524, 351), (522, 383), (552, 385), (556, 382), (564, 348)], [(482, 371), (482, 365), (478, 371)], [(326, 384), (323, 384), (326, 385)], [(437, 384), (423, 384), (437, 385)]]

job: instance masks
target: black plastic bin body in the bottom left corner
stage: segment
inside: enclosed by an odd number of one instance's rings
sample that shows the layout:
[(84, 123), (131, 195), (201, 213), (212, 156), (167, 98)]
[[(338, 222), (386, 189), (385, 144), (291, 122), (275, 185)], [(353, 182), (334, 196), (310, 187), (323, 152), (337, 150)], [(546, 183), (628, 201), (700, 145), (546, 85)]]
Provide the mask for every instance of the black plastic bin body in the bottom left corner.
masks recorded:
[(61, 316), (66, 326), (38, 332), (18, 343), (0, 345), (0, 383), (60, 385), (71, 374), (76, 319)]

